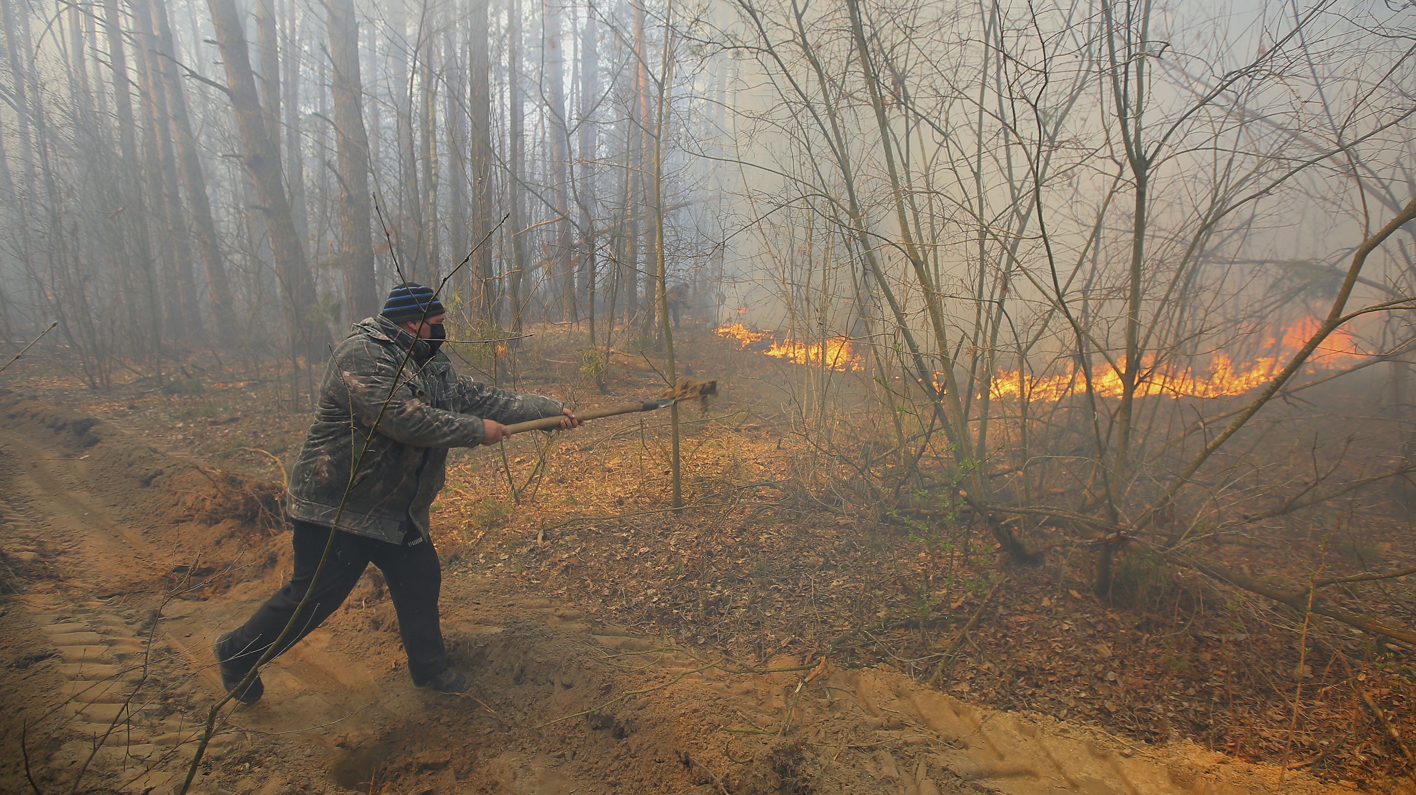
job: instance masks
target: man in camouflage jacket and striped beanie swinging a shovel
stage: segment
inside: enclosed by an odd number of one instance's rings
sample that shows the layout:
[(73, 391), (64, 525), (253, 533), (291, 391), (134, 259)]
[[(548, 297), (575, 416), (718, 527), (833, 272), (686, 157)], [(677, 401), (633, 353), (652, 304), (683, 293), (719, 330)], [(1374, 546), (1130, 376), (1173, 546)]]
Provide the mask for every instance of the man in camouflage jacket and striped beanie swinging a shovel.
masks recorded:
[[(496, 444), (507, 437), (503, 423), (555, 414), (565, 414), (562, 429), (581, 423), (551, 398), (455, 373), (439, 351), (446, 340), (442, 321), (443, 306), (432, 289), (408, 282), (394, 287), (378, 317), (355, 323), (334, 351), (314, 424), (290, 472), (295, 570), (290, 583), (245, 625), (217, 639), (227, 692), (292, 618), (276, 654), (329, 618), (370, 563), (388, 583), (413, 685), (443, 693), (467, 690), (467, 678), (447, 666), (438, 618), (442, 571), (428, 535), (428, 508), (443, 487), (447, 450)], [(333, 547), (296, 617), (331, 528)], [(263, 692), (256, 676), (234, 696), (251, 704)]]

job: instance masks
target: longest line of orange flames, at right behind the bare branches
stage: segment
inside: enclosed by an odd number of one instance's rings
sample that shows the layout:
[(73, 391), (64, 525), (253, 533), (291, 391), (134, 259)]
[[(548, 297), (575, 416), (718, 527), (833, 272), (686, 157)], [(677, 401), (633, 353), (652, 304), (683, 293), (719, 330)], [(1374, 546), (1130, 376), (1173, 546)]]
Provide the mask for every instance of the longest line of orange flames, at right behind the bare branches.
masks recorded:
[[(1284, 327), (1277, 337), (1264, 340), (1264, 348), (1277, 351), (1273, 356), (1256, 356), (1242, 368), (1236, 368), (1228, 354), (1215, 354), (1209, 362), (1209, 376), (1204, 378), (1195, 371), (1185, 368), (1178, 372), (1164, 372), (1154, 368), (1154, 358), (1147, 359), (1141, 371), (1140, 382), (1136, 385), (1136, 395), (1170, 395), (1171, 398), (1225, 398), (1243, 395), (1269, 383), (1273, 376), (1287, 365), (1296, 354), (1318, 330), (1314, 318)], [(1318, 369), (1331, 369), (1352, 364), (1364, 352), (1348, 331), (1334, 331), (1318, 345), (1307, 364)], [(1126, 361), (1119, 362), (1121, 368)], [(1121, 373), (1110, 365), (1092, 373), (1092, 389), (1102, 398), (1120, 398), (1124, 385)], [(1029, 400), (1056, 402), (1069, 395), (1086, 392), (1086, 382), (1080, 372), (1072, 366), (1061, 375), (1052, 376), (1021, 376), (1018, 371), (1000, 371), (988, 389), (993, 398), (1018, 398), (1027, 393)]]

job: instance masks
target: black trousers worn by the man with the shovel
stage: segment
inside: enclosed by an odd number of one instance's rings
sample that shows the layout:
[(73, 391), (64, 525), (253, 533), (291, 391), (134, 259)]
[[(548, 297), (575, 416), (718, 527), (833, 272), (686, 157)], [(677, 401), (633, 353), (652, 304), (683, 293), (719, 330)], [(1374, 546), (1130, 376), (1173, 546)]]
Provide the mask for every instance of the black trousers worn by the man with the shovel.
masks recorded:
[[(330, 529), (323, 525), (295, 522), (295, 571), (290, 581), (221, 644), (219, 654), (228, 666), (249, 671), (280, 637), (280, 631), (295, 617), (304, 591), (312, 587), (314, 569), (320, 564), (329, 538)], [(408, 673), (413, 683), (423, 685), (447, 668), (447, 649), (443, 646), (438, 618), (442, 567), (438, 552), (429, 542), (402, 546), (336, 532), (334, 547), (320, 571), (320, 581), (313, 584), (310, 601), (276, 654), (285, 654), (329, 618), (354, 590), (370, 563), (378, 566), (388, 583), (388, 596), (398, 613), (398, 631), (404, 637), (404, 651), (408, 652)]]

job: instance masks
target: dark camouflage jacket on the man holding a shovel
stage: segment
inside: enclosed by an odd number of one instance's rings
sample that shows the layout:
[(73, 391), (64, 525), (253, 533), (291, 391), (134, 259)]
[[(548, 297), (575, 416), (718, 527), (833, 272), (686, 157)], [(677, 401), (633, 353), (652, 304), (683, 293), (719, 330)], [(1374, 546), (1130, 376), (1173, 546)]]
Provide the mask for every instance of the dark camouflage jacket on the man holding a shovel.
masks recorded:
[(518, 423), (561, 407), (551, 398), (459, 376), (447, 354), (429, 359), (428, 344), (392, 321), (361, 320), (324, 369), (314, 424), (290, 472), (290, 516), (334, 526), (338, 515), (338, 529), (392, 543), (404, 543), (409, 528), (428, 539), (428, 508), (443, 487), (447, 448), (481, 444), (483, 417)]

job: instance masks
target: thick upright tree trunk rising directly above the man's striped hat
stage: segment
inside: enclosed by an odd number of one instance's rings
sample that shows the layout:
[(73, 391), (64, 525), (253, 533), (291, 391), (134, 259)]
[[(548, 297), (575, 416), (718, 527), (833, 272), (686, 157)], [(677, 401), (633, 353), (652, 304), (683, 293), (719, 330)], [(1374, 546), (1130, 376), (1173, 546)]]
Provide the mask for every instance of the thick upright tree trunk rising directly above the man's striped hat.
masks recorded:
[(368, 134), (360, 79), (358, 20), (353, 0), (330, 0), (330, 65), (334, 68), (334, 146), (340, 174), (340, 263), (348, 321), (378, 311), (374, 284), (372, 208), (368, 192)]

